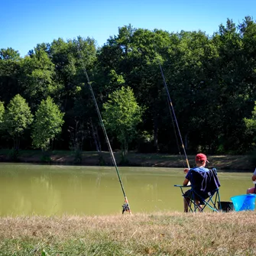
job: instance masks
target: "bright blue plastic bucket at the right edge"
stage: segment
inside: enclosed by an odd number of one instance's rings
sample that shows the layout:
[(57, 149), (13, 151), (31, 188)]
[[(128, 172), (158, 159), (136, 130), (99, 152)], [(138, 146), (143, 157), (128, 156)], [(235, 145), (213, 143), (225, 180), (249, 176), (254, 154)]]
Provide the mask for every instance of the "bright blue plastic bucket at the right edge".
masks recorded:
[(255, 196), (255, 194), (232, 196), (231, 199), (234, 204), (235, 211), (254, 211)]

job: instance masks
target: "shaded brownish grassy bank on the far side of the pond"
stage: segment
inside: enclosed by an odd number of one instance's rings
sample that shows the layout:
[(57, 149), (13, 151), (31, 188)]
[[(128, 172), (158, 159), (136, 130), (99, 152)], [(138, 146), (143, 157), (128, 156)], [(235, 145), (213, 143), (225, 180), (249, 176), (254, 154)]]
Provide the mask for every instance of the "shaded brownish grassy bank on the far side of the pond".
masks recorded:
[[(126, 162), (122, 162), (120, 152), (114, 152), (115, 160), (119, 166), (137, 167), (185, 167), (186, 160), (180, 155), (170, 154), (137, 154), (129, 152)], [(194, 155), (188, 155), (190, 165), (194, 164)], [(219, 170), (254, 170), (256, 156), (254, 155), (208, 155), (209, 167)], [(11, 150), (0, 149), (0, 161), (8, 162), (11, 159)], [(109, 152), (82, 151), (50, 151), (43, 156), (41, 151), (19, 151), (18, 161), (27, 163), (48, 164), (81, 164), (81, 165), (112, 165)]]

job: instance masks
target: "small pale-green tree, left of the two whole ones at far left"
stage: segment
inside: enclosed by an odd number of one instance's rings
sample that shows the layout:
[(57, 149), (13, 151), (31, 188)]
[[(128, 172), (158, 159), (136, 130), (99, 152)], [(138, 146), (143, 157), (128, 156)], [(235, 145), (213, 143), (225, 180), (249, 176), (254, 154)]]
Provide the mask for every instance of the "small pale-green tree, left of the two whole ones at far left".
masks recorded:
[(17, 94), (7, 105), (4, 113), (3, 128), (14, 141), (14, 158), (18, 157), (20, 136), (33, 122), (31, 109), (24, 98)]

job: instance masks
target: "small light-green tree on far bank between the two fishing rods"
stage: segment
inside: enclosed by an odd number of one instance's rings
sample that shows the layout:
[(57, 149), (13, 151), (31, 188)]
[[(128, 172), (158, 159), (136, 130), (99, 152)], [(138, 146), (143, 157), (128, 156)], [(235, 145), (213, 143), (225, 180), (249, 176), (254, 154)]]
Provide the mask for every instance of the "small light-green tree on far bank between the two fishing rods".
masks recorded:
[(136, 126), (141, 122), (143, 109), (136, 102), (132, 89), (124, 86), (109, 95), (103, 109), (105, 126), (117, 136), (124, 157), (136, 134)]

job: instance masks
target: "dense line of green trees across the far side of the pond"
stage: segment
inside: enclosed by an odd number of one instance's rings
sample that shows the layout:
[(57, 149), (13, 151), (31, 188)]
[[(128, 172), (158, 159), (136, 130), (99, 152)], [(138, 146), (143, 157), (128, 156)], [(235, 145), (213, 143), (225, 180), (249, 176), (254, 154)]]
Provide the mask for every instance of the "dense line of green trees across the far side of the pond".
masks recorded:
[[(170, 92), (173, 122), (160, 66)], [(0, 50), (2, 148), (244, 154), (256, 142), (256, 23), (219, 31), (118, 28), (102, 47), (77, 37)], [(177, 128), (179, 130), (177, 130)]]

